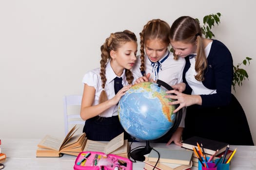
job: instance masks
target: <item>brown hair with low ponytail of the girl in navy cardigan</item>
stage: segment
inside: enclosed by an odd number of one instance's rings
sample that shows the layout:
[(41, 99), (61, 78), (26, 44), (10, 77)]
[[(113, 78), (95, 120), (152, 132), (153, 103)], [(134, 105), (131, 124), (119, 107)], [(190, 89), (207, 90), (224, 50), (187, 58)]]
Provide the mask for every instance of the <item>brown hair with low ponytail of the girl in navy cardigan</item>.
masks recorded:
[[(203, 73), (207, 68), (207, 59), (204, 53), (202, 32), (198, 21), (189, 16), (177, 18), (171, 26), (170, 40), (180, 41), (182, 43), (197, 44), (197, 56), (195, 65), (197, 75), (195, 78), (197, 81), (203, 81)], [(174, 55), (176, 56), (175, 51)]]

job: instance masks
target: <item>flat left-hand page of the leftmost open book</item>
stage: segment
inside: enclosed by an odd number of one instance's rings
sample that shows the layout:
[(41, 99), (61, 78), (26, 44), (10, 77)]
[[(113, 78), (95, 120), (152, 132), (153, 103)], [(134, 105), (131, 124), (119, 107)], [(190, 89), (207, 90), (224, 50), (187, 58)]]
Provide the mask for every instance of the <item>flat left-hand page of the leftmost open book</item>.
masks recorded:
[(38, 144), (40, 148), (53, 149), (59, 151), (62, 140), (54, 136), (46, 135)]

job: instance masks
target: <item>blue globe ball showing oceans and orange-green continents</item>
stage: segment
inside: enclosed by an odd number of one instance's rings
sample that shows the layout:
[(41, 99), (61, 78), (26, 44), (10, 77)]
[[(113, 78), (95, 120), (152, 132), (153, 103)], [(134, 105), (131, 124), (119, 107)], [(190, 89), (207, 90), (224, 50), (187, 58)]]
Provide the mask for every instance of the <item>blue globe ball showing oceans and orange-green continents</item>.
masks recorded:
[(133, 85), (118, 103), (118, 118), (124, 130), (141, 140), (165, 135), (174, 125), (176, 114), (167, 89), (154, 82)]

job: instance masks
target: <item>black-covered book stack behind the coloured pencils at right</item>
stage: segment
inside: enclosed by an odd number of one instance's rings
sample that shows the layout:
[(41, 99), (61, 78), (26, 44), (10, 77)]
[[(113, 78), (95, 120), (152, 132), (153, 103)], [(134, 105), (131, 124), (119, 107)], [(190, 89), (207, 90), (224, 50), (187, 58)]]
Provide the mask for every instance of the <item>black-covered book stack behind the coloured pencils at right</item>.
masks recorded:
[[(212, 155), (215, 154), (212, 159), (213, 161), (217, 158), (220, 158), (225, 153), (225, 150), (228, 145), (228, 143), (225, 142), (219, 142), (198, 136), (193, 136), (182, 142), (182, 148), (193, 151), (193, 148), (196, 147), (198, 150), (197, 143), (203, 145), (203, 150), (206, 157), (211, 157)], [(229, 157), (232, 154), (232, 152), (232, 150), (228, 150), (226, 157)], [(194, 167), (198, 167), (198, 157), (196, 153), (193, 153), (192, 162)]]

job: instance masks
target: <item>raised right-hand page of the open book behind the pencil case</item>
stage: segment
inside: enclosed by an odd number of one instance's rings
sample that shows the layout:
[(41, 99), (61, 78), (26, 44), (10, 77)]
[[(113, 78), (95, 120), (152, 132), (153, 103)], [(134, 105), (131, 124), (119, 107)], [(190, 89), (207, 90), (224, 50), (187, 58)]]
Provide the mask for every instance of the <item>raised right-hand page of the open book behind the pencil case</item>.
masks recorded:
[(110, 140), (104, 150), (104, 153), (106, 154), (112, 153), (113, 151), (123, 146), (123, 143), (124, 143), (123, 137), (124, 137), (124, 133), (121, 133), (117, 137)]

